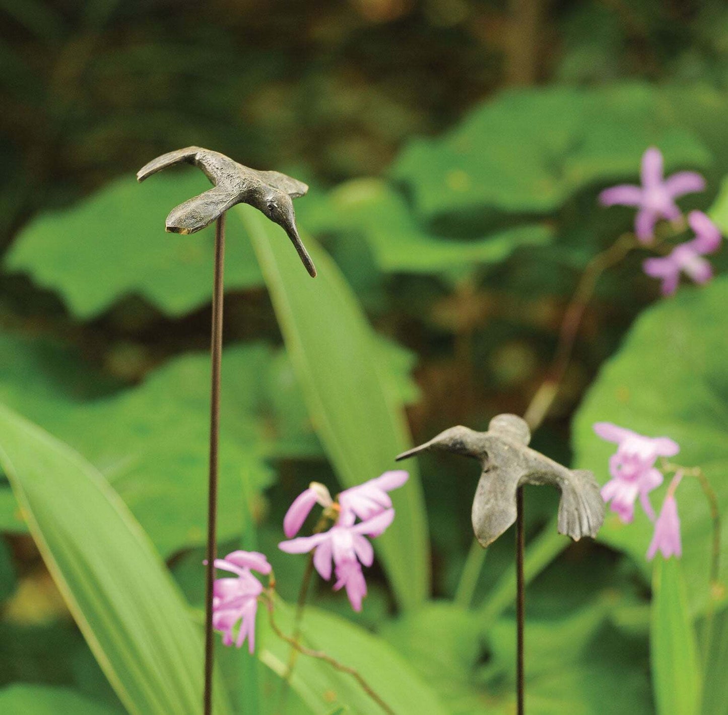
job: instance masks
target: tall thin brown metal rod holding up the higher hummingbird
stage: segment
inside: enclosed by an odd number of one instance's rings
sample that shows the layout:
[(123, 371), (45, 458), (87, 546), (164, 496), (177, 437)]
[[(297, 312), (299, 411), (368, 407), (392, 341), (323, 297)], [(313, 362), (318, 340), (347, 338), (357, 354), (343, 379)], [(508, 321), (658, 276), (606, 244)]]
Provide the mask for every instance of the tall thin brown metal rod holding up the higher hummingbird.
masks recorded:
[(213, 585), (217, 556), (218, 441), (220, 435), (220, 366), (223, 354), (223, 266), (225, 263), (225, 214), (215, 224), (215, 278), (213, 284), (212, 339), (210, 358), (210, 478), (207, 495), (207, 567), (205, 572), (205, 715), (213, 712)]

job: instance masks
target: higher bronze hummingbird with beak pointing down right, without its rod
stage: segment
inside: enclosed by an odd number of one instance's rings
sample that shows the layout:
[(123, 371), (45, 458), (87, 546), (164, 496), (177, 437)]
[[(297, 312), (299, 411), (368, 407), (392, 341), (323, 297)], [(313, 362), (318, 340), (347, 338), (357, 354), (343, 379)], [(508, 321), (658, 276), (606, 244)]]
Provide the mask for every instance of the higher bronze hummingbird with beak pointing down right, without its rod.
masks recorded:
[(167, 216), (166, 230), (170, 233), (191, 234), (204, 229), (235, 204), (254, 206), (271, 221), (282, 226), (298, 251), (306, 270), (312, 277), (316, 268), (296, 229), (293, 199), (303, 196), (309, 187), (277, 171), (258, 171), (233, 161), (225, 154), (199, 146), (170, 151), (152, 159), (137, 172), (137, 181), (144, 181), (168, 166), (186, 162), (202, 169), (213, 188), (204, 194), (181, 203)]

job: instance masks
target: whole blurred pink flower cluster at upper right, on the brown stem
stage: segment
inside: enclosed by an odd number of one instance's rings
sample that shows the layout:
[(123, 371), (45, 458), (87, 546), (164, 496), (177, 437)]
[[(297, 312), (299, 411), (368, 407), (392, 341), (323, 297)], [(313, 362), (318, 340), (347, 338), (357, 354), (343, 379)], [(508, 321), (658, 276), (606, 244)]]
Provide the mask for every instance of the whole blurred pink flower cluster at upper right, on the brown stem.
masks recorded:
[[(678, 221), (682, 218), (676, 198), (705, 189), (705, 179), (694, 171), (679, 171), (663, 178), (662, 163), (660, 150), (650, 147), (642, 157), (641, 186), (620, 184), (599, 194), (604, 206), (638, 207), (635, 233), (638, 240), (645, 244), (654, 240), (657, 219)], [(676, 246), (668, 256), (647, 258), (642, 264), (647, 275), (662, 280), (662, 294), (665, 296), (675, 293), (681, 273), (695, 283), (706, 283), (713, 276), (711, 264), (703, 256), (720, 248), (721, 232), (701, 211), (691, 211), (687, 222), (695, 234), (692, 240)]]

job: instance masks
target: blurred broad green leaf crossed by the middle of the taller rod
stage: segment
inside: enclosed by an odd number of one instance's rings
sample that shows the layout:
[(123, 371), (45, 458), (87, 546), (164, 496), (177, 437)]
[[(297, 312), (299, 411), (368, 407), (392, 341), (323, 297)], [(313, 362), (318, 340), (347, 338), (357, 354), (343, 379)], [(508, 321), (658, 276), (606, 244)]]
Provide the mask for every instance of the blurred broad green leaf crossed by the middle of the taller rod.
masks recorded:
[[(163, 556), (205, 540), (210, 358), (194, 353), (152, 371), (137, 387), (81, 399), (95, 373), (58, 344), (0, 336), (0, 399), (58, 435), (98, 467), (121, 494)], [(240, 534), (242, 490), (259, 499), (272, 473), (258, 410), (261, 344), (223, 354), (220, 439), (221, 540)], [(3, 528), (17, 521), (0, 491)]]

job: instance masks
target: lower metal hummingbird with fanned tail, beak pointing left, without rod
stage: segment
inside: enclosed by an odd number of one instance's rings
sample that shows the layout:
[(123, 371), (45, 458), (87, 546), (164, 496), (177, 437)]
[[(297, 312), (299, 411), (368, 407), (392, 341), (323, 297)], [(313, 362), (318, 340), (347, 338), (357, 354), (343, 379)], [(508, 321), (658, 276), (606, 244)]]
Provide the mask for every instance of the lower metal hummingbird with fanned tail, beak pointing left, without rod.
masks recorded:
[(594, 475), (570, 470), (531, 449), (531, 432), (515, 414), (491, 419), (487, 432), (451, 427), (419, 447), (400, 454), (397, 461), (427, 449), (438, 449), (478, 459), (483, 466), (472, 502), (472, 528), (480, 545), (493, 543), (515, 522), (515, 494), (523, 484), (551, 484), (561, 489), (558, 530), (575, 541), (595, 537), (604, 521), (604, 499)]

